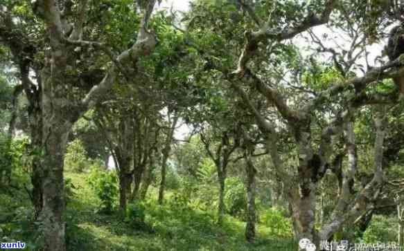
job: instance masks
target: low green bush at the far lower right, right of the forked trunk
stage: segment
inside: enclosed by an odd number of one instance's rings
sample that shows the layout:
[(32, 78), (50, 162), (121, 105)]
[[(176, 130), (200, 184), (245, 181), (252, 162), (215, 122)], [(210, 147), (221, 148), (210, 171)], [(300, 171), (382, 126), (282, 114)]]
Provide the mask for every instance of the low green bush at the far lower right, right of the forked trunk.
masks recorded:
[(371, 223), (363, 234), (365, 243), (387, 243), (396, 241), (396, 226), (397, 223), (393, 218), (374, 215)]

